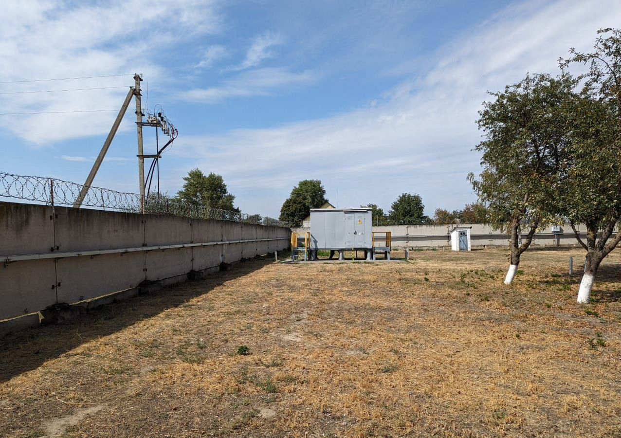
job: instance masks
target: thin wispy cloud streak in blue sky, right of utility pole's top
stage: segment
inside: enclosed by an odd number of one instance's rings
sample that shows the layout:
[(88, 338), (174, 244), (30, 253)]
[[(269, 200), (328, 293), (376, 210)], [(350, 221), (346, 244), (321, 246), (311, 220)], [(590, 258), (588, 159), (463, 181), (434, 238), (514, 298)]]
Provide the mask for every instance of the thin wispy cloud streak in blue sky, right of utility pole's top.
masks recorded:
[(294, 73), (286, 68), (258, 68), (233, 76), (221, 86), (181, 91), (177, 96), (184, 101), (217, 103), (233, 97), (266, 96), (274, 89), (310, 84), (318, 79), (312, 71)]

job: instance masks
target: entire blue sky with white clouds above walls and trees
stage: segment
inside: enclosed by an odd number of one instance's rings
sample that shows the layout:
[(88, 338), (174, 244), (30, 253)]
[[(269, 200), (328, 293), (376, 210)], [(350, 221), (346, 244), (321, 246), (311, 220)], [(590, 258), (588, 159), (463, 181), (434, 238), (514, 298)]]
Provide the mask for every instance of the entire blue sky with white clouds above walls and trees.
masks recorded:
[[(616, 0), (3, 2), (0, 93), (130, 86), (179, 138), (161, 189), (194, 167), (224, 177), (242, 211), (278, 216), (297, 181), (341, 207), (427, 214), (475, 200), (477, 111), (487, 90), (556, 72), (618, 26)], [(140, 11), (137, 13), (137, 11)], [(125, 75), (88, 80), (7, 81)], [(115, 109), (127, 89), (0, 94), (0, 112)], [(138, 191), (134, 110), (94, 185)], [(0, 171), (83, 182), (116, 112), (0, 116)], [(155, 148), (152, 132), (147, 152)]]

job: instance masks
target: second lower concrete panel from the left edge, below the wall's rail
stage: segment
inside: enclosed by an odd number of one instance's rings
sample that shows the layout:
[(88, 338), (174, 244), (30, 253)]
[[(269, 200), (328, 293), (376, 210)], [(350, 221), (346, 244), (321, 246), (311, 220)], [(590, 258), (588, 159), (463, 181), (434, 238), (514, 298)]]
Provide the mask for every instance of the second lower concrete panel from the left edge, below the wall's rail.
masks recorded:
[(135, 288), (145, 280), (145, 253), (67, 257), (57, 263), (59, 303)]

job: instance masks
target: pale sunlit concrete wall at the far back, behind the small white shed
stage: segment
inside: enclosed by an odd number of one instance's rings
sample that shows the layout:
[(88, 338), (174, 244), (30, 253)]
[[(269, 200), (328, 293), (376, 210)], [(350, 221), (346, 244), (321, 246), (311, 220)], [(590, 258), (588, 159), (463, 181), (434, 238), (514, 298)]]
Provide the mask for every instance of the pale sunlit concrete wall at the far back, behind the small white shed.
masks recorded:
[[(373, 231), (390, 231), (392, 232), (393, 248), (442, 248), (451, 249), (451, 236), (449, 231), (455, 227), (455, 224), (448, 225), (392, 225), (373, 227)], [(473, 249), (484, 247), (506, 247), (509, 244), (509, 235), (499, 230), (492, 229), (487, 224), (460, 224), (460, 227), (472, 227), (470, 230), (470, 243)], [(558, 245), (578, 245), (574, 232), (569, 225), (561, 226), (563, 234), (558, 238)], [(576, 226), (584, 239), (586, 236), (586, 227), (583, 225)], [(298, 236), (304, 237), (304, 233), (310, 231), (309, 228), (294, 228), (292, 231), (297, 232)], [(525, 235), (525, 234), (524, 234)], [(381, 239), (383, 235), (379, 235)], [(378, 239), (378, 236), (376, 236)], [(379, 245), (383, 245), (383, 240), (379, 241)], [(537, 246), (556, 246), (557, 237), (552, 233), (552, 227), (547, 227), (537, 232), (533, 237), (532, 245)], [(376, 240), (376, 246), (378, 246)]]

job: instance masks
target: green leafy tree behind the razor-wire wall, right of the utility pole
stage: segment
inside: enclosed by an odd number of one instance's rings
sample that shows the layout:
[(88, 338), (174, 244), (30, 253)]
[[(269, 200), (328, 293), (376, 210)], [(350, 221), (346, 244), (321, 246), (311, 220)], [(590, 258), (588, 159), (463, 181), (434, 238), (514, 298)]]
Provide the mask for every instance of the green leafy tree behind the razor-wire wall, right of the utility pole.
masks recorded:
[(193, 206), (239, 211), (233, 206), (235, 196), (227, 190), (222, 176), (213, 172), (205, 176), (201, 170), (193, 169), (188, 172), (188, 176), (183, 177), (183, 180), (185, 181), (183, 188), (177, 193), (181, 201)]

